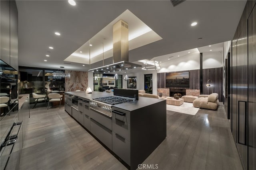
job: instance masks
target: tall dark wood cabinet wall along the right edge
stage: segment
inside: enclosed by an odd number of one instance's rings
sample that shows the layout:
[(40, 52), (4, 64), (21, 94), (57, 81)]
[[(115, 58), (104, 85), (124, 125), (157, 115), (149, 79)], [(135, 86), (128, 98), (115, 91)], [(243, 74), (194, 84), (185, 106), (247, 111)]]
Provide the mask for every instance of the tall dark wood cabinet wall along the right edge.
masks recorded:
[(247, 1), (232, 40), (230, 127), (245, 170), (256, 169), (256, 7)]

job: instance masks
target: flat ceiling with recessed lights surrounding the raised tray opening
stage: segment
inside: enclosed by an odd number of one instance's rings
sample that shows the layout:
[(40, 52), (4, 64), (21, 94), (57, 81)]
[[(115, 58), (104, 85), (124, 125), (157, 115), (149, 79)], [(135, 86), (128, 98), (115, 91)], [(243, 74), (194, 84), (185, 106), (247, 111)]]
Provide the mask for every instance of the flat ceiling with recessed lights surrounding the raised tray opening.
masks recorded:
[[(80, 0), (76, 6), (67, 0), (18, 0), (16, 3), (19, 65), (52, 69), (64, 66), (67, 70), (87, 71), (89, 65), (64, 59), (127, 9), (163, 38), (130, 50), (129, 61), (134, 62), (231, 40), (246, 1), (187, 0), (176, 7), (169, 0)], [(192, 22), (198, 24), (192, 27)], [(61, 36), (54, 35), (56, 31)], [(110, 63), (111, 57), (104, 61), (104, 65)], [(102, 61), (91, 65), (99, 66)]]

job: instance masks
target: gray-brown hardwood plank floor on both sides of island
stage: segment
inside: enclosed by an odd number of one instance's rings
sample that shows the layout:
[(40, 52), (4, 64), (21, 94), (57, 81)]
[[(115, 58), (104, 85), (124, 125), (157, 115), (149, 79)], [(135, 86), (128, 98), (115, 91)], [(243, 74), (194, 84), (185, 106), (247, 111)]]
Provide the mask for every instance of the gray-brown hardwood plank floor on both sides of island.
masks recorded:
[[(143, 162), (159, 170), (242, 170), (226, 119), (218, 111), (196, 115), (167, 111), (167, 137)], [(150, 141), (149, 141), (150, 142)], [(157, 165), (156, 165), (157, 164)], [(64, 107), (30, 109), (21, 170), (126, 169)]]

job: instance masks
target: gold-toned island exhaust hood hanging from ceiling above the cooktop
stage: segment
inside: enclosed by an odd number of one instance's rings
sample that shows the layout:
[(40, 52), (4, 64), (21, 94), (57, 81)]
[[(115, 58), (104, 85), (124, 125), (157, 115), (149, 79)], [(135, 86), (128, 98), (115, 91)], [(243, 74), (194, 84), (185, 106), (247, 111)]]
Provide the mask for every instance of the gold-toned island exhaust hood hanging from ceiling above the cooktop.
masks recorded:
[(129, 59), (128, 24), (119, 20), (113, 25), (113, 64), (89, 69), (96, 73), (110, 73), (142, 67), (139, 64), (128, 62)]

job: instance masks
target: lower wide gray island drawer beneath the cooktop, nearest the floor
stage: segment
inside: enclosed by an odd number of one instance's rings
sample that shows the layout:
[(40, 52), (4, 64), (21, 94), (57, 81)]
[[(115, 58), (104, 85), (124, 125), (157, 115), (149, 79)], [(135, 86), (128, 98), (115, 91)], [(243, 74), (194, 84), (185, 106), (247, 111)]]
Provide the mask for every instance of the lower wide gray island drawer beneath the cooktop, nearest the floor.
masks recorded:
[(110, 129), (91, 119), (91, 132), (112, 150), (112, 131)]

